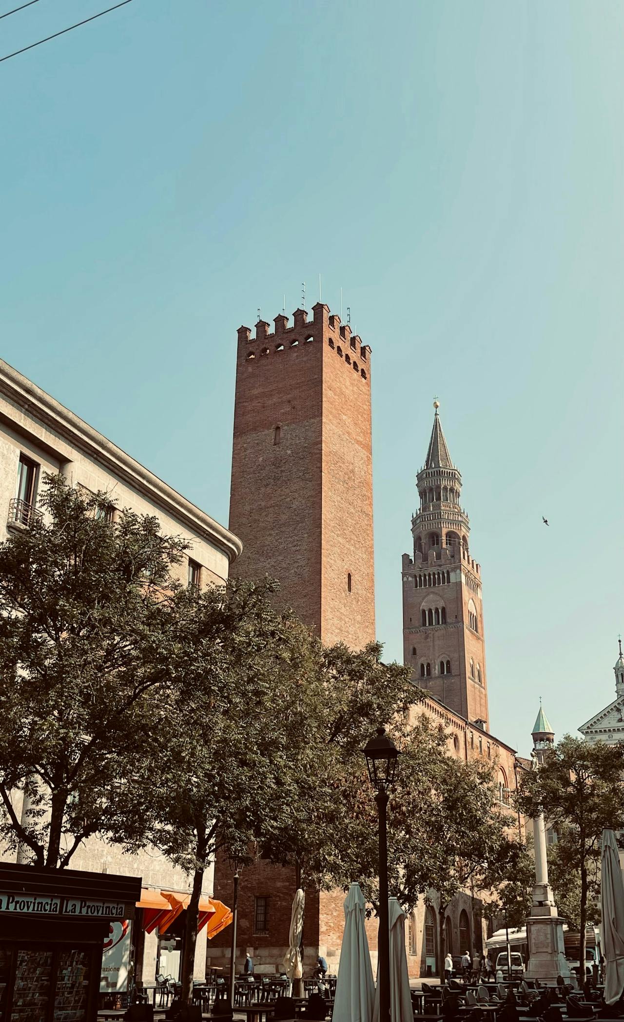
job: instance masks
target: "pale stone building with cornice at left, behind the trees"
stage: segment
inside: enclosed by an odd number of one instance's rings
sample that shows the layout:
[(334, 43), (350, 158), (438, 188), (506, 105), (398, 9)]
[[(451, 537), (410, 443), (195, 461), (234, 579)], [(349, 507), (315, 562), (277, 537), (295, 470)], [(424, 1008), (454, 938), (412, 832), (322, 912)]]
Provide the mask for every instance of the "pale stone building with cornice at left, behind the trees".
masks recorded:
[[(228, 529), (0, 361), (0, 540), (15, 529), (28, 528), (41, 514), (37, 504), (45, 472), (61, 473), (71, 485), (84, 491), (108, 494), (111, 505), (107, 514), (111, 519), (118, 509), (130, 508), (139, 514), (157, 516), (164, 532), (187, 540), (190, 556), (175, 569), (184, 584), (225, 582), (230, 564), (240, 554), (241, 543)], [(28, 808), (17, 793), (15, 808), (18, 815)], [(190, 890), (189, 878), (155, 848), (127, 855), (114, 845), (91, 838), (76, 851), (70, 866), (143, 877), (146, 897), (149, 900), (153, 895), (156, 903), (162, 890), (182, 899)], [(211, 876), (206, 875), (206, 895), (211, 894)], [(140, 924), (145, 918), (142, 912), (137, 914), (136, 977), (153, 982), (158, 964), (160, 971), (176, 973), (179, 951), (175, 949), (176, 938), (161, 946), (157, 929), (143, 934)], [(175, 933), (181, 931), (179, 919)], [(164, 946), (172, 943), (173, 949), (165, 950)], [(200, 978), (204, 976), (205, 948), (203, 929), (195, 960)]]

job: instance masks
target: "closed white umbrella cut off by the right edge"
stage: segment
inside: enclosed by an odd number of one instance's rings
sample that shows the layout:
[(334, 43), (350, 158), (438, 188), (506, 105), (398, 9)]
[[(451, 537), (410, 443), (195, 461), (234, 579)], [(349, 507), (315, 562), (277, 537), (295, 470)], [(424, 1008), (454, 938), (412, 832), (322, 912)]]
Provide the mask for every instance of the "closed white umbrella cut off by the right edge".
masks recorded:
[(605, 1001), (615, 1005), (624, 992), (624, 883), (618, 844), (612, 830), (603, 831), (601, 860), (603, 954), (607, 963)]

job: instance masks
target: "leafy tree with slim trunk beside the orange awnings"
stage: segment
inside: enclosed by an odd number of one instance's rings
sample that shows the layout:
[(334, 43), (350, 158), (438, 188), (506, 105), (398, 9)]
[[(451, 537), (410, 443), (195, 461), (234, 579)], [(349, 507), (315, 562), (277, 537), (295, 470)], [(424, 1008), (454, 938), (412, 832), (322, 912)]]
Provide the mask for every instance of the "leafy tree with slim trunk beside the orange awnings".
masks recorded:
[[(249, 861), (289, 794), (306, 735), (321, 645), (271, 603), (276, 585), (231, 580), (176, 595), (171, 608), (166, 741), (136, 786), (150, 840), (192, 877), (182, 962), (190, 1004), (199, 899), (219, 849)], [(305, 694), (305, 697), (304, 697)], [(132, 846), (132, 845), (130, 845)]]

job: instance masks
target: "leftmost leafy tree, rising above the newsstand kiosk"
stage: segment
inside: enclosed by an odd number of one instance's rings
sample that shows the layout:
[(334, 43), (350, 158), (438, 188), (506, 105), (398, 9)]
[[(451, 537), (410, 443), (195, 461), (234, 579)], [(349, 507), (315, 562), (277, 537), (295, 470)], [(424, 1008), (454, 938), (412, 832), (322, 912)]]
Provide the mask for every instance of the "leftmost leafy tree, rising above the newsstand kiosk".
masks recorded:
[(110, 503), (47, 475), (43, 519), (0, 545), (0, 837), (38, 865), (143, 833), (128, 778), (157, 725), (186, 544), (156, 518), (107, 520)]

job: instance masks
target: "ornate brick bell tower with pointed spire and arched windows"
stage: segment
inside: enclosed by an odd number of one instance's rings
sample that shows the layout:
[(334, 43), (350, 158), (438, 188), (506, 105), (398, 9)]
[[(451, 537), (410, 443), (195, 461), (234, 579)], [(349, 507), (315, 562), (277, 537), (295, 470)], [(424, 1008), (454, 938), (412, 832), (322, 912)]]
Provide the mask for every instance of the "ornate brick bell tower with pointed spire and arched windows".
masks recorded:
[(417, 475), (414, 558), (402, 558), (403, 660), (438, 702), (488, 729), (481, 572), (460, 507), (462, 475), (448, 454), (437, 401), (434, 408), (425, 467)]

